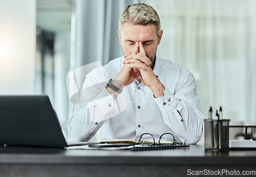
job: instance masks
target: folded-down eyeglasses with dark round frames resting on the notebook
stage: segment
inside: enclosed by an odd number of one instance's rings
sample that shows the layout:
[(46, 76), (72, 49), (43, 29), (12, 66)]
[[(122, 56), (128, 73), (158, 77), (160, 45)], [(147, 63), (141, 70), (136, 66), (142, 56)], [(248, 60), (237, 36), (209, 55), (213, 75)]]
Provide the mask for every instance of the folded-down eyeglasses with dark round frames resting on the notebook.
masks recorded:
[(180, 145), (185, 145), (186, 140), (185, 140), (185, 142), (183, 144), (181, 142), (176, 141), (174, 136), (173, 136), (173, 134), (165, 133), (165, 134), (160, 136), (160, 138), (158, 140), (158, 143), (156, 143), (155, 142), (155, 138), (154, 138), (153, 135), (145, 133), (145, 134), (142, 134), (140, 136), (140, 139), (138, 140), (138, 143), (141, 144), (141, 145), (145, 145), (145, 146), (155, 145), (155, 144), (172, 145), (174, 143), (180, 144)]

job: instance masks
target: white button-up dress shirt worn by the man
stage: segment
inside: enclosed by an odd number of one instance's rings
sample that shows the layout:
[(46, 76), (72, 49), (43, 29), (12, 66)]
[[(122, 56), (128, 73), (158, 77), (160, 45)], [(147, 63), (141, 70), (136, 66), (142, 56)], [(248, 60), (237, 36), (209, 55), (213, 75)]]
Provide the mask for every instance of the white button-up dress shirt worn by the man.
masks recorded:
[(147, 132), (158, 141), (170, 132), (177, 141), (197, 143), (204, 118), (193, 74), (156, 57), (153, 71), (165, 87), (164, 97), (155, 98), (148, 86), (135, 80), (113, 99), (105, 85), (115, 79), (123, 60), (124, 56), (111, 60), (86, 76), (69, 122), (71, 140), (88, 141), (101, 127), (102, 138), (135, 140)]

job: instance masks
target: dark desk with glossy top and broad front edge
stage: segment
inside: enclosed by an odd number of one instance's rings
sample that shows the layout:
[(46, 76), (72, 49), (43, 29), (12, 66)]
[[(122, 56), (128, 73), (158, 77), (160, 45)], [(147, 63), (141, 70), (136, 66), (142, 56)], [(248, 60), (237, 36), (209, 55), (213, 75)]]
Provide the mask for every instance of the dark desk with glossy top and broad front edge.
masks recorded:
[(203, 170), (255, 172), (256, 151), (204, 152), (202, 145), (155, 151), (0, 147), (0, 176), (192, 176)]

